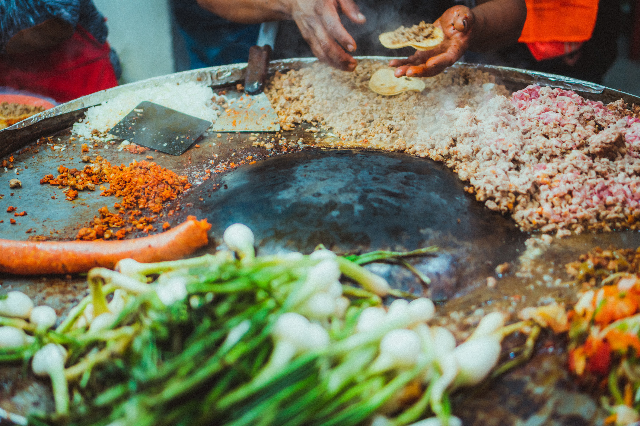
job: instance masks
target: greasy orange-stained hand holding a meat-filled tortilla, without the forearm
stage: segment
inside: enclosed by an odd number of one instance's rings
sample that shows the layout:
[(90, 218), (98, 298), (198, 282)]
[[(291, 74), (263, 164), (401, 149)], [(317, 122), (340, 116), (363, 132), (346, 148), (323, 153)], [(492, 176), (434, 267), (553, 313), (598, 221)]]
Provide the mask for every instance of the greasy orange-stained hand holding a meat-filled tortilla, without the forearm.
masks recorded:
[(469, 45), (471, 29), (476, 18), (466, 6), (447, 9), (433, 23), (444, 33), (444, 40), (435, 49), (417, 50), (407, 59), (394, 59), (390, 66), (397, 66), (396, 77), (432, 77), (453, 65), (465, 53)]

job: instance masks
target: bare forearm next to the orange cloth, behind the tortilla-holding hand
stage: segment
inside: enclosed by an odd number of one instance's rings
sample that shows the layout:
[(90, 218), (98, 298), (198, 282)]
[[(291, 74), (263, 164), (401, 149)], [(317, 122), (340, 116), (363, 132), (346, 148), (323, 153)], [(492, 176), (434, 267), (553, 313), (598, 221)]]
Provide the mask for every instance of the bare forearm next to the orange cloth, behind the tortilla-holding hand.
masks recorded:
[(473, 9), (476, 22), (469, 50), (495, 50), (518, 41), (527, 6), (524, 0), (490, 0)]

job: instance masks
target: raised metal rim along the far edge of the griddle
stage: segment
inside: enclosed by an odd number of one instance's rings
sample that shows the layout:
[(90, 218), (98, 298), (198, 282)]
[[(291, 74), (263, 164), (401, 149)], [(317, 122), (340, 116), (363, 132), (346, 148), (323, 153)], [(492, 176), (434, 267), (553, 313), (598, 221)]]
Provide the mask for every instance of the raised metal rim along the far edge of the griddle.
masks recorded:
[[(357, 56), (356, 59), (358, 59), (358, 61), (389, 61), (394, 58), (387, 56)], [(271, 63), (269, 63), (269, 73), (273, 74), (277, 71), (284, 72), (286, 70), (300, 69), (316, 61), (317, 59), (315, 57), (271, 61)], [(561, 75), (520, 70), (506, 66), (468, 63), (456, 63), (451, 68), (482, 70), (490, 73), (490, 75), (494, 75), (499, 84), (505, 84), (508, 87), (520, 86), (520, 88), (522, 88), (523, 85), (527, 84), (540, 84), (543, 86), (571, 89), (579, 95), (586, 96), (590, 100), (600, 100), (608, 103), (623, 98), (625, 102), (640, 104), (640, 98), (637, 96), (600, 86), (599, 84), (563, 77)], [(150, 79), (132, 82), (92, 93), (91, 95), (82, 96), (76, 100), (35, 114), (4, 130), (0, 130), (0, 157), (23, 148), (39, 137), (58, 132), (71, 126), (83, 116), (88, 107), (98, 105), (115, 96), (148, 87), (161, 86), (168, 82), (175, 82), (176, 84), (181, 82), (200, 82), (201, 84), (211, 87), (225, 87), (241, 82), (241, 80), (244, 79), (245, 70), (246, 63), (212, 66), (209, 68), (152, 77)]]

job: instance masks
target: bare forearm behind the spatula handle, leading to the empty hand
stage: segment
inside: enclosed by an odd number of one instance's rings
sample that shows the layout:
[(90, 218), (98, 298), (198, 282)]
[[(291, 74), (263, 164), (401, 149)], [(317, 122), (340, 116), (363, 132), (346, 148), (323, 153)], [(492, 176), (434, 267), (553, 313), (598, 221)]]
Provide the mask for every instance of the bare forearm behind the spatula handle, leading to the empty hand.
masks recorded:
[(239, 24), (259, 24), (271, 20), (291, 19), (291, 13), (286, 4), (280, 0), (197, 1), (201, 8)]

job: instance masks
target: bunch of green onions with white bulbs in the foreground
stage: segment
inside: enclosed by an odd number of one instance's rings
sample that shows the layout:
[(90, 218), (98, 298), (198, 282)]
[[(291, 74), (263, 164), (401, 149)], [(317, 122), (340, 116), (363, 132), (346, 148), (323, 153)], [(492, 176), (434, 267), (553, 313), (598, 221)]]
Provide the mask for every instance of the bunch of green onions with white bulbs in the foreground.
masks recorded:
[[(214, 255), (93, 269), (90, 295), (55, 330), (26, 321), (28, 307), (0, 317), (0, 361), (31, 360), (51, 378), (56, 413), (29, 423), (400, 426), (435, 415), (455, 425), (449, 392), (482, 381), (518, 330), (489, 314), (456, 347), (427, 325), (429, 299), (383, 307), (403, 294), (360, 265), (435, 248), (256, 257), (241, 224), (224, 240)], [(15, 311), (3, 302), (0, 314)], [(3, 329), (22, 334), (3, 343)]]

